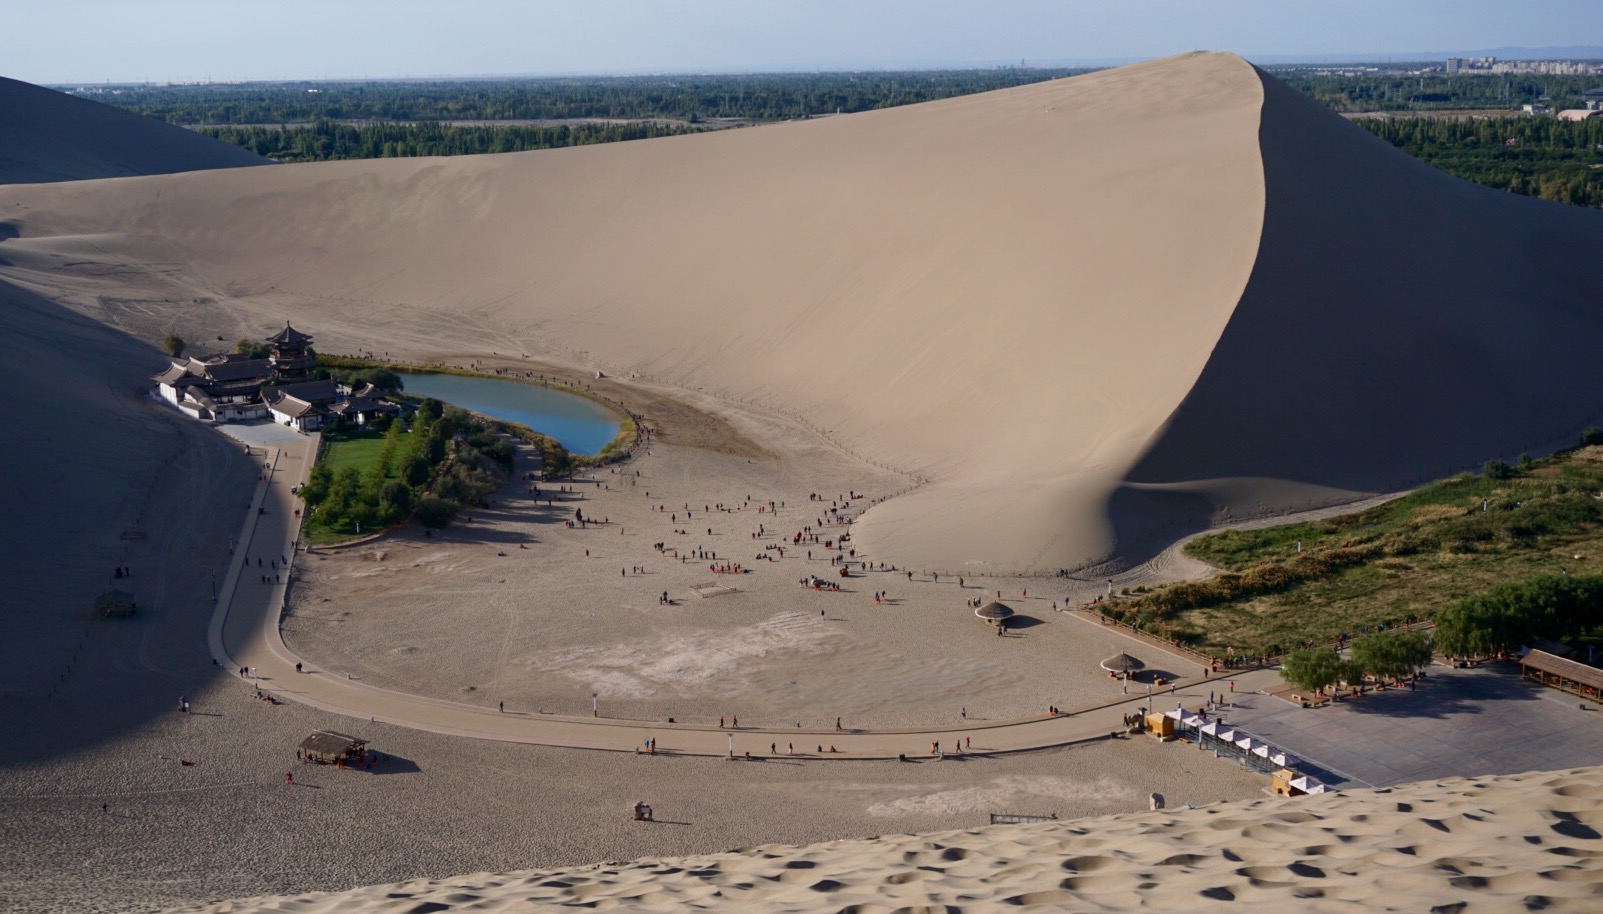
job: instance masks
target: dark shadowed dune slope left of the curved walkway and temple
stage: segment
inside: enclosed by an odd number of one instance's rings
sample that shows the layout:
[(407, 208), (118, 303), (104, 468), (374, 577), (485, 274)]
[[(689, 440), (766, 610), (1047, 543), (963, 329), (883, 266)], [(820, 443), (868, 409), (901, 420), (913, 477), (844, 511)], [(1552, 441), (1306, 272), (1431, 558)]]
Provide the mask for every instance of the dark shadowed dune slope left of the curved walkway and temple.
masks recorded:
[[(221, 577), (255, 465), (146, 396), (164, 356), (0, 282), (0, 765), (74, 754), (170, 715), (224, 673), (212, 664), (208, 572)], [(46, 370), (48, 369), (48, 370)], [(45, 380), (46, 383), (40, 383)], [(237, 497), (237, 502), (236, 502)], [(168, 561), (180, 555), (184, 561)], [(131, 576), (115, 579), (114, 568)], [(96, 617), (99, 593), (139, 600)]]

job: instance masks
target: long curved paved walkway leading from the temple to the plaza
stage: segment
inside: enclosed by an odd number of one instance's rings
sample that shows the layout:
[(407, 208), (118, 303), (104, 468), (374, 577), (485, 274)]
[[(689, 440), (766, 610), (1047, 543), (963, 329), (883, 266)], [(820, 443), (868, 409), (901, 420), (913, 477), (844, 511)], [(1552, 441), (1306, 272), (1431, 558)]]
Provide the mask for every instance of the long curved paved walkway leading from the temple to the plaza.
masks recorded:
[[(224, 431), (231, 431), (224, 428)], [(261, 691), (353, 718), (382, 720), (414, 730), (564, 746), (574, 749), (641, 750), (656, 741), (659, 755), (768, 755), (777, 754), (824, 758), (894, 758), (930, 757), (931, 744), (952, 754), (962, 744), (965, 752), (1021, 752), (1103, 739), (1120, 730), (1125, 714), (1148, 701), (1140, 694), (1117, 696), (1108, 702), (1072, 709), (1056, 717), (1024, 720), (975, 722), (960, 726), (911, 730), (813, 730), (813, 728), (718, 728), (710, 723), (665, 723), (643, 720), (611, 720), (604, 717), (561, 717), (550, 714), (502, 714), (494, 709), (444, 699), (406, 694), (369, 686), (338, 673), (321, 670), (297, 657), (284, 643), (279, 629), (293, 566), (300, 508), (290, 492), (306, 479), (317, 452), (317, 438), (273, 436), (271, 444), (260, 433), (250, 435), (252, 454), (261, 462), (263, 478), (256, 483), (252, 507), (240, 528), (234, 561), (218, 590), (216, 609), (208, 630), (212, 656), (228, 670), (247, 667), (247, 678)], [(258, 564), (260, 563), (260, 564)], [(1088, 622), (1096, 624), (1096, 622)], [(301, 672), (297, 672), (301, 664)], [(1209, 691), (1226, 691), (1225, 680), (1234, 680), (1241, 693), (1273, 688), (1279, 683), (1273, 670), (1218, 673), (1191, 678), (1177, 686), (1175, 694), (1157, 690), (1153, 702), (1172, 707), (1201, 707)], [(357, 726), (353, 725), (353, 730)], [(793, 747), (793, 749), (792, 749)], [(822, 747), (822, 754), (819, 749)], [(837, 752), (829, 752), (834, 747)]]

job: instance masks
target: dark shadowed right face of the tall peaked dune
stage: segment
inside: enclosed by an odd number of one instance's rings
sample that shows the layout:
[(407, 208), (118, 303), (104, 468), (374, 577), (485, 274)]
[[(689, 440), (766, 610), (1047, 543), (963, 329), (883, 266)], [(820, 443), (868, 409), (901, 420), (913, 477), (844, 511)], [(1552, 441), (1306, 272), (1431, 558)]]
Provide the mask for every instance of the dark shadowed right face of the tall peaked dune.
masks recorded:
[(1598, 422), (1603, 215), (1451, 178), (1263, 80), (1258, 257), (1111, 499), (1124, 561), (1226, 518), (1419, 486)]

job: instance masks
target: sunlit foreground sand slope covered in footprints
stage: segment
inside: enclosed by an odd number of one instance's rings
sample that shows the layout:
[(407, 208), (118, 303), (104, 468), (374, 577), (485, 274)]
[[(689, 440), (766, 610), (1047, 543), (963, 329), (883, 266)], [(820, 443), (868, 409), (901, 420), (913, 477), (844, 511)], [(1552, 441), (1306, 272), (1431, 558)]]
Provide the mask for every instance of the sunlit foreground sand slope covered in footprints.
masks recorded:
[(474, 874), (194, 909), (1592, 911), (1603, 879), (1598, 797), (1598, 768), (1456, 778), (1069, 823)]

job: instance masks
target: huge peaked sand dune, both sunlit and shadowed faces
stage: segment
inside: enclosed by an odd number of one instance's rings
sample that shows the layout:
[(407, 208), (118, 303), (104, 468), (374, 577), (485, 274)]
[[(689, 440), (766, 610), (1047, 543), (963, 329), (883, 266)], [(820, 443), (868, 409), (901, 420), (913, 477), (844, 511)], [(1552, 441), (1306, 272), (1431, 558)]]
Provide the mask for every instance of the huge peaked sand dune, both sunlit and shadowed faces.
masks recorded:
[[(928, 484), (872, 555), (1133, 561), (1593, 419), (1603, 218), (1438, 175), (1231, 55), (601, 148), (35, 188), (263, 321), (797, 417)], [(27, 207), (26, 210), (21, 207)], [(120, 239), (120, 241), (119, 241)], [(394, 327), (454, 322), (418, 351)], [(486, 338), (492, 340), (486, 346)]]

